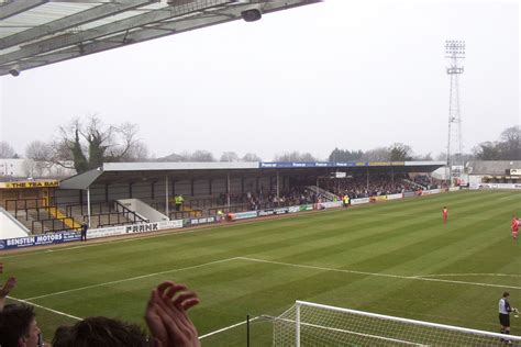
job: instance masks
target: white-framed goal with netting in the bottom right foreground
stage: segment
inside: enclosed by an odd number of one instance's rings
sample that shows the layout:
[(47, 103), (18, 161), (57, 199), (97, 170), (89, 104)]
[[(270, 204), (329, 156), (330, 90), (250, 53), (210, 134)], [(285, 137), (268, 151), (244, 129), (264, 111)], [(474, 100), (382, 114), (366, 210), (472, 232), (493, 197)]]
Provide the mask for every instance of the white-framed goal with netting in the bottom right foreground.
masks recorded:
[[(499, 326), (499, 324), (498, 324)], [(304, 301), (274, 320), (274, 346), (521, 346), (521, 337)]]

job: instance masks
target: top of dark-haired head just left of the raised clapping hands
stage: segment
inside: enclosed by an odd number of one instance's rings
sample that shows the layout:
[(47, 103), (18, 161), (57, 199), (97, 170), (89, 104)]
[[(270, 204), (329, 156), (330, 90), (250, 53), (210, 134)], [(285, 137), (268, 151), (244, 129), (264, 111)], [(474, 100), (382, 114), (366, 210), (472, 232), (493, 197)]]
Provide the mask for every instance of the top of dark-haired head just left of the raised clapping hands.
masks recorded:
[(135, 324), (108, 317), (88, 317), (73, 326), (60, 326), (53, 347), (144, 347), (148, 338)]

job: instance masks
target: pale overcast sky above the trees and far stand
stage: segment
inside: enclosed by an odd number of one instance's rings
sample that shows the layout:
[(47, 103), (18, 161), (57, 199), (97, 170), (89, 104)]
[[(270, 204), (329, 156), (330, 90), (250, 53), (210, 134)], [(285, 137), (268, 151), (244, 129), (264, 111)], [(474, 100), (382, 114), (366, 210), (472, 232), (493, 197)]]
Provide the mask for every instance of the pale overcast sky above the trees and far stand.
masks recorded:
[(445, 40), (465, 40), (464, 150), (520, 124), (520, 9), (508, 0), (325, 0), (0, 77), (0, 139), (23, 154), (71, 117), (138, 124), (155, 156), (395, 142), (446, 150)]

